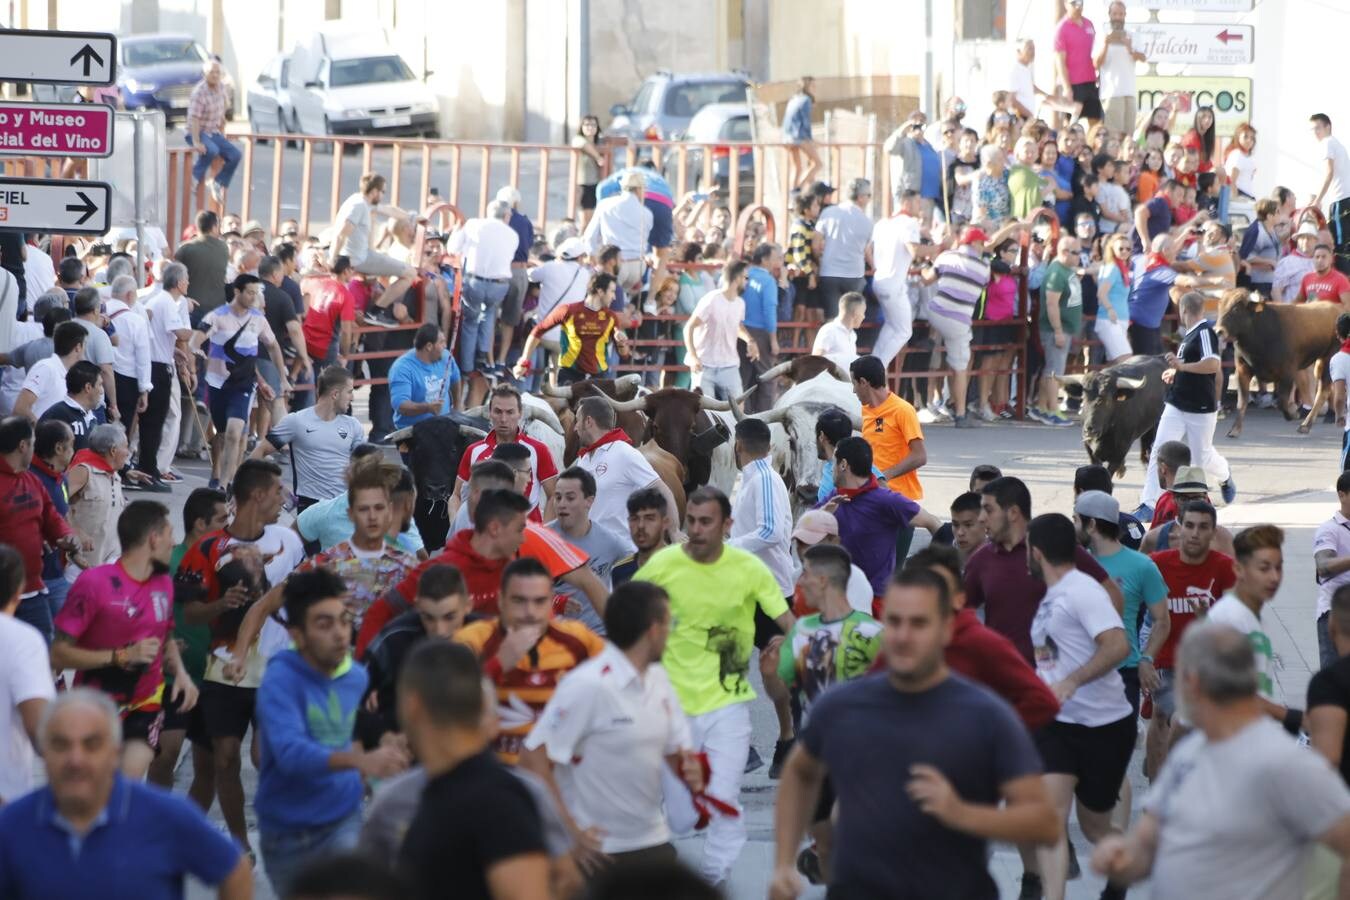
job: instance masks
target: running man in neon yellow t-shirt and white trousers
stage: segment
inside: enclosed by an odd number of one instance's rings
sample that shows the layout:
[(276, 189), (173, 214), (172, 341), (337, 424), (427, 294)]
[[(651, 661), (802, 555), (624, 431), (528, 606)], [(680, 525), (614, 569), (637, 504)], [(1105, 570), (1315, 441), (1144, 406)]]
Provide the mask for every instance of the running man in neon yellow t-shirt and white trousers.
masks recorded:
[[(714, 812), (707, 826), (699, 873), (720, 884), (745, 846), (745, 819), (738, 814), (751, 748), (747, 703), (755, 699), (749, 681), (755, 610), (783, 633), (795, 619), (768, 567), (725, 544), (732, 525), (725, 494), (716, 487), (694, 491), (684, 505), (684, 522), (688, 541), (656, 553), (633, 580), (659, 584), (670, 594), (672, 626), (662, 663), (688, 716), (694, 752), (707, 754), (711, 776), (706, 796), (737, 811), (734, 816)], [(776, 663), (782, 640), (775, 637), (761, 648), (770, 664)], [(667, 785), (671, 827), (687, 831), (697, 818), (690, 795), (674, 776)]]

